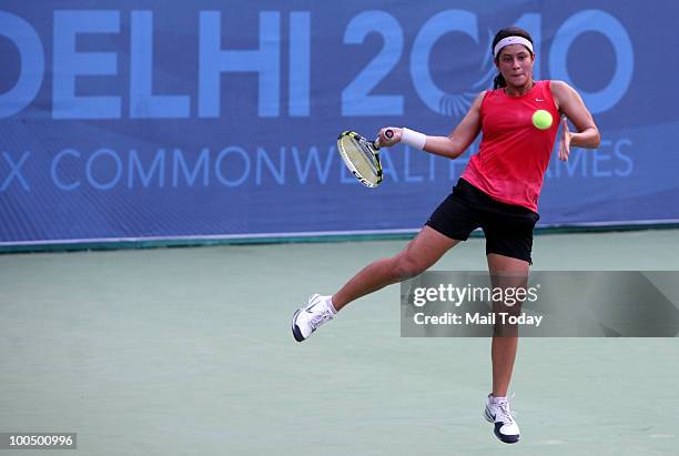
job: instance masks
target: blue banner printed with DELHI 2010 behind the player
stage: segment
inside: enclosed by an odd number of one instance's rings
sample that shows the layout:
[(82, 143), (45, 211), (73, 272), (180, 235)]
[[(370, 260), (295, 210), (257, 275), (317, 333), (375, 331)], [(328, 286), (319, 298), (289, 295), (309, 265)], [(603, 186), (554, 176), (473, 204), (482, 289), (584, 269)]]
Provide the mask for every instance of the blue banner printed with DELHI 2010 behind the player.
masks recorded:
[(407, 146), (361, 186), (337, 133), (445, 135), (530, 31), (601, 131), (553, 155), (541, 225), (679, 221), (679, 6), (607, 1), (0, 4), (0, 244), (418, 229), (478, 141)]

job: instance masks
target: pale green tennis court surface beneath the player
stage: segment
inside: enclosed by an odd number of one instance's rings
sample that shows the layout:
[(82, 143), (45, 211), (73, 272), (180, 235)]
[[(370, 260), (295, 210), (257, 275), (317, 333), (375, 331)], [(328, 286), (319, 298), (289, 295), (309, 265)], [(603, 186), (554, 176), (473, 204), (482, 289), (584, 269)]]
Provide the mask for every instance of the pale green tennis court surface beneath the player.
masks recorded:
[[(534, 270), (676, 270), (678, 236), (539, 235)], [(435, 270), (485, 268), (483, 243)], [(78, 433), (87, 455), (678, 452), (677, 338), (520, 341), (513, 446), (482, 416), (490, 341), (402, 338), (397, 286), (294, 342), (308, 294), (404, 244), (1, 255), (0, 428)]]

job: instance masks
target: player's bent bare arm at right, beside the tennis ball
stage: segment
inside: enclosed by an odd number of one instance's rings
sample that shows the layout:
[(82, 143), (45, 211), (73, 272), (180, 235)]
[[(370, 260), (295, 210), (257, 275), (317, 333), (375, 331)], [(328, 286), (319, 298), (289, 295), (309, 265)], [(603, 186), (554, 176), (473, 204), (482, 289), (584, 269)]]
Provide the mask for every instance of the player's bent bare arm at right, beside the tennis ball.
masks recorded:
[(580, 94), (563, 81), (551, 81), (549, 87), (559, 113), (568, 118), (577, 129), (577, 132), (569, 131), (568, 122), (564, 119), (561, 140), (559, 142), (559, 159), (568, 160), (571, 145), (575, 148), (597, 149), (601, 142), (599, 129), (591, 113), (585, 107)]

